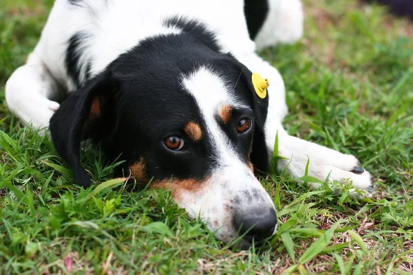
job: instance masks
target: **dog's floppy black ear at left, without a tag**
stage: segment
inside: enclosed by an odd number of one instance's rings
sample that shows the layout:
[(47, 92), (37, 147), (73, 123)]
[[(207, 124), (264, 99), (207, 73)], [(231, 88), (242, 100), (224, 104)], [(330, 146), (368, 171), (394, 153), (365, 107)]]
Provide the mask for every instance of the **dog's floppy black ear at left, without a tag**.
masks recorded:
[(102, 72), (70, 94), (50, 119), (50, 133), (56, 150), (69, 163), (76, 182), (85, 188), (91, 181), (81, 166), (81, 141), (95, 137), (99, 128), (102, 130), (107, 113), (113, 113), (118, 89), (118, 81), (112, 74)]

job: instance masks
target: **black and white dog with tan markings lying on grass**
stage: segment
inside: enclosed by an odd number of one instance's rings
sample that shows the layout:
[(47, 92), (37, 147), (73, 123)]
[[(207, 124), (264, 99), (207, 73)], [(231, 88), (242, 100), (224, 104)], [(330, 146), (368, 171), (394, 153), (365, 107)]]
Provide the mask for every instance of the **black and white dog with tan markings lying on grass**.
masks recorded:
[(373, 190), (356, 157), (283, 129), (282, 77), (256, 50), (302, 31), (299, 0), (56, 0), (6, 100), (24, 123), (50, 127), (81, 186), (81, 141), (94, 138), (218, 239), (260, 243), (277, 217), (253, 172), (268, 171), (277, 132), (280, 170), (302, 177), (309, 157), (308, 175)]

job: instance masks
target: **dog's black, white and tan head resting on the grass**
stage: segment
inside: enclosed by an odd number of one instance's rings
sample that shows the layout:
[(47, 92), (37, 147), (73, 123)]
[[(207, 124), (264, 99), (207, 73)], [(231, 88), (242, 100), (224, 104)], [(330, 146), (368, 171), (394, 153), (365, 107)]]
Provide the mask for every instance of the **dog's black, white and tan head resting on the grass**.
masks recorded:
[[(277, 222), (253, 173), (268, 170), (268, 96), (257, 96), (252, 73), (230, 54), (178, 36), (156, 39), (117, 58), (61, 104), (50, 121), (56, 149), (78, 184), (89, 186), (80, 144), (94, 137), (109, 157), (121, 154), (125, 175), (171, 188), (178, 205), (218, 239), (262, 241)], [(164, 48), (154, 53), (156, 45)]]

